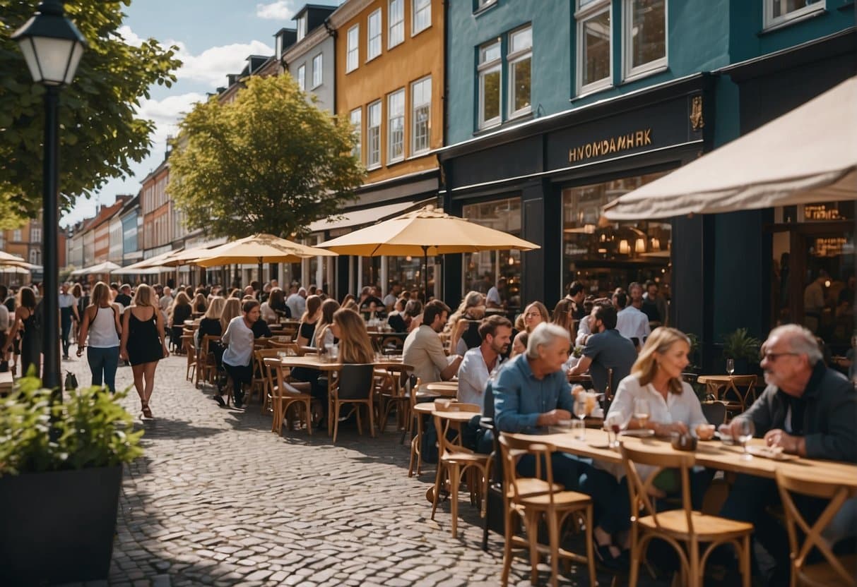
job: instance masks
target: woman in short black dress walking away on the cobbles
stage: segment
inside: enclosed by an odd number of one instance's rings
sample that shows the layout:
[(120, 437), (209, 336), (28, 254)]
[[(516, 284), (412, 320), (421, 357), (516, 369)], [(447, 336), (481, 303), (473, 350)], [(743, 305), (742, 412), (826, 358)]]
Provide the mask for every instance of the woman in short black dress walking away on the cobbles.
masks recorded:
[(137, 287), (134, 301), (122, 315), (119, 356), (131, 363), (143, 418), (152, 418), (149, 399), (155, 384), (155, 368), (170, 352), (166, 348), (164, 320), (155, 305), (152, 288), (145, 283)]

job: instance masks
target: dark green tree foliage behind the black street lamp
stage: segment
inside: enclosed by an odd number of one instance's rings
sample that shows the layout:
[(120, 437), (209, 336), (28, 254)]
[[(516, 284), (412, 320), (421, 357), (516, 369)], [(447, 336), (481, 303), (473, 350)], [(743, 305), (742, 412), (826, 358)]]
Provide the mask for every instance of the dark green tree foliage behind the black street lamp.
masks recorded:
[[(90, 197), (112, 178), (132, 173), (147, 157), (154, 122), (136, 117), (153, 84), (171, 86), (181, 66), (177, 47), (148, 39), (139, 47), (119, 33), (131, 0), (66, 3), (89, 47), (75, 80), (60, 98), (60, 205)], [(44, 108), (21, 51), (9, 37), (33, 14), (39, 0), (0, 0), (0, 228), (35, 217), (42, 200)]]

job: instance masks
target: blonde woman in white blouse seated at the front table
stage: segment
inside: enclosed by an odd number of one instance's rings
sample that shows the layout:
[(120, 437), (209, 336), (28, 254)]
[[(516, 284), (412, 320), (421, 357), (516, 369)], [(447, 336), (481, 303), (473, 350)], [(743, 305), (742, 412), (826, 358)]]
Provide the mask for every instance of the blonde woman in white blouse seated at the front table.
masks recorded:
[[(687, 353), (691, 344), (680, 330), (659, 328), (652, 331), (640, 352), (631, 375), (622, 379), (605, 419), (614, 414), (629, 421), (628, 429), (647, 428), (657, 436), (672, 433), (686, 434), (698, 424), (708, 424), (697, 395), (689, 383), (682, 381), (681, 373), (688, 364)], [(650, 418), (643, 423), (632, 418), (636, 404), (648, 404)], [(637, 465), (644, 480), (653, 472), (651, 467)], [(692, 475), (692, 501), (694, 509), (702, 507), (702, 499), (711, 475), (698, 471)], [(596, 507), (596, 526), (592, 537), (596, 541), (596, 555), (605, 566), (624, 566), (620, 562), (621, 549), (629, 548), (627, 531), (631, 528), (631, 509), (627, 479), (622, 465), (609, 465), (595, 461), (580, 477), (580, 490), (592, 496)], [(653, 491), (656, 497), (665, 497), (680, 490), (674, 471), (662, 471), (656, 478)]]

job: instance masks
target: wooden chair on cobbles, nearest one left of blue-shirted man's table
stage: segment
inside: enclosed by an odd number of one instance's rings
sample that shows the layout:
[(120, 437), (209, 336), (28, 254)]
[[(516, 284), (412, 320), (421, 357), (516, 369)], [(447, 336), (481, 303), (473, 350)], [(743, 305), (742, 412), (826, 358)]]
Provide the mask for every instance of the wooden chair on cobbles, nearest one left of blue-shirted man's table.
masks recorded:
[[(490, 460), (487, 454), (474, 454), (470, 448), (464, 448), (460, 444), (461, 434), (458, 434), (458, 444), (453, 443), (447, 436), (452, 427), (452, 420), (446, 418), (444, 412), (467, 412), (478, 414), (481, 408), (475, 404), (461, 404), (450, 402), (446, 406), (435, 404), (434, 428), (437, 430), (437, 472), (434, 476), (434, 494), (432, 495), (431, 519), (437, 511), (437, 502), (440, 500), (440, 489), (446, 480), (450, 487), (450, 513), (452, 514), (452, 537), (458, 534), (458, 485), (461, 476), (470, 472), (468, 487), (470, 489), (470, 501), (482, 502), (485, 495), (485, 480), (488, 478), (488, 467)], [(456, 423), (457, 424), (457, 423)], [(476, 490), (478, 483), (479, 489)]]

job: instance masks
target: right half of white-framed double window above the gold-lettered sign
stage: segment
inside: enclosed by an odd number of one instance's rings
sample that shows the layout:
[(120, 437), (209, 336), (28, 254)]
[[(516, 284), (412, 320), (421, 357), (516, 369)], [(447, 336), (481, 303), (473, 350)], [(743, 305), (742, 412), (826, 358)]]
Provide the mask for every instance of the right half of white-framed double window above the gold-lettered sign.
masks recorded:
[(625, 0), (625, 79), (667, 67), (667, 0)]

